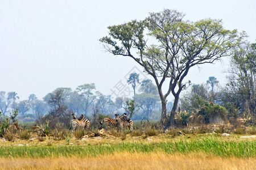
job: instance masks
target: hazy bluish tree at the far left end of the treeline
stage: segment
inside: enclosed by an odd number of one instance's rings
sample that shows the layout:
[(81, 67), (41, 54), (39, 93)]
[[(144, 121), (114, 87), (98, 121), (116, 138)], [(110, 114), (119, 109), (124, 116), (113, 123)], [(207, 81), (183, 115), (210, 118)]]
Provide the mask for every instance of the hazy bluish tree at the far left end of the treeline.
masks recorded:
[(5, 116), (6, 112), (9, 111), (16, 99), (19, 99), (16, 92), (8, 92), (6, 94), (5, 91), (0, 91), (0, 111), (3, 116)]

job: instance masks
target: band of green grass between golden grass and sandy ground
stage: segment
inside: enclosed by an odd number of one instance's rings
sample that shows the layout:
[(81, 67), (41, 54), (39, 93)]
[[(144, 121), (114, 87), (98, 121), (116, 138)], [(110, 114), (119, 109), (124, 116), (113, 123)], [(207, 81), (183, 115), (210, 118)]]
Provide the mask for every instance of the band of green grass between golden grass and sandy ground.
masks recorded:
[(1, 146), (0, 158), (59, 158), (80, 157), (114, 154), (117, 152), (164, 152), (167, 154), (188, 154), (191, 152), (204, 152), (210, 155), (236, 158), (249, 158), (256, 156), (256, 141), (221, 141), (214, 137), (200, 139), (131, 143), (123, 142), (113, 145), (86, 146)]

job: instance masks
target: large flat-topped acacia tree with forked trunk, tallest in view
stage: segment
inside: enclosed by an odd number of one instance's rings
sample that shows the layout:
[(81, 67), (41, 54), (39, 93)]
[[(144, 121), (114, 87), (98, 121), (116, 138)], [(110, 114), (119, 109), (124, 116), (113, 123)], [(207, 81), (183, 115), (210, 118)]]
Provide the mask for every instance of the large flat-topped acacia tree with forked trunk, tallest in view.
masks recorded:
[[(109, 26), (109, 36), (100, 41), (117, 56), (131, 57), (151, 75), (162, 102), (161, 122), (165, 128), (175, 124), (174, 116), (179, 95), (185, 88), (184, 78), (191, 67), (213, 63), (230, 56), (242, 35), (222, 27), (221, 20), (185, 21), (176, 10), (163, 10), (142, 20)], [(163, 84), (168, 88), (164, 91)], [(167, 96), (174, 105), (167, 120)]]

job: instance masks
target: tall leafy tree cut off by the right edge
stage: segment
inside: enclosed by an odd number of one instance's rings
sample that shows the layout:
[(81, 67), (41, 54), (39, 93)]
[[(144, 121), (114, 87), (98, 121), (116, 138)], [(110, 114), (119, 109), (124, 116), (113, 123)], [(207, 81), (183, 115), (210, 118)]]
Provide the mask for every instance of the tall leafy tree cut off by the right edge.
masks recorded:
[(248, 114), (255, 118), (256, 44), (246, 42), (237, 47), (228, 73), (228, 84), (222, 91), (224, 105), (232, 111), (234, 117), (237, 114)]

